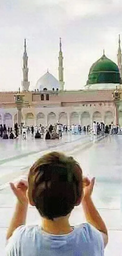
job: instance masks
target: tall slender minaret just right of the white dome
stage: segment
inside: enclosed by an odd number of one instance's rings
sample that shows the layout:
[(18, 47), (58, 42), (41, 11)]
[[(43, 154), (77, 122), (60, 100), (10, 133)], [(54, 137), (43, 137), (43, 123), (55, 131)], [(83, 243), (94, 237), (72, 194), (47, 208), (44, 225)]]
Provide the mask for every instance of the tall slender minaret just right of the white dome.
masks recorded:
[(63, 55), (61, 49), (61, 38), (60, 38), (60, 51), (58, 57), (59, 67), (58, 67), (58, 78), (61, 85), (61, 90), (64, 90), (64, 68), (63, 68)]

